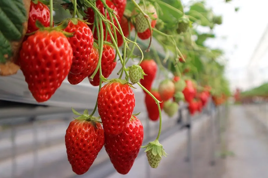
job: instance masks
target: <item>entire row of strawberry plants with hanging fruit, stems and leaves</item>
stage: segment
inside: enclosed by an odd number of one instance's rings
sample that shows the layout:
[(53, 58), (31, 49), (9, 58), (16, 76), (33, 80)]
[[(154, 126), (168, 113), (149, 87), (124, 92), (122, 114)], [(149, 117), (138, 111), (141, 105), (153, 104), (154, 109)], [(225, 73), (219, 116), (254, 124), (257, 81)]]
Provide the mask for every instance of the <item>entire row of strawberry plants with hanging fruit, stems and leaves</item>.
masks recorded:
[[(54, 21), (53, 5), (71, 16)], [(120, 174), (130, 171), (141, 147), (157, 168), (166, 156), (158, 141), (162, 109), (172, 117), (183, 101), (194, 115), (211, 95), (216, 105), (230, 96), (224, 65), (216, 60), (222, 51), (204, 45), (214, 34), (196, 30), (222, 23), (203, 2), (193, 2), (188, 12), (180, 0), (10, 0), (0, 6), (8, 7), (2, 8), (7, 18), (0, 19), (8, 29), (0, 28), (0, 75), (20, 69), (37, 102), (49, 100), (66, 78), (71, 85), (85, 79), (99, 86), (93, 112), (72, 109), (78, 117), (66, 130), (67, 157), (76, 174), (90, 169), (103, 146)], [(165, 51), (163, 56), (154, 43)], [(126, 66), (133, 58), (140, 61)], [(117, 63), (122, 65), (119, 77), (108, 79)], [(155, 89), (157, 73), (165, 79)], [(159, 119), (158, 136), (145, 146), (144, 128), (133, 113), (134, 84), (144, 91), (149, 119)], [(97, 108), (99, 117), (94, 116)]]

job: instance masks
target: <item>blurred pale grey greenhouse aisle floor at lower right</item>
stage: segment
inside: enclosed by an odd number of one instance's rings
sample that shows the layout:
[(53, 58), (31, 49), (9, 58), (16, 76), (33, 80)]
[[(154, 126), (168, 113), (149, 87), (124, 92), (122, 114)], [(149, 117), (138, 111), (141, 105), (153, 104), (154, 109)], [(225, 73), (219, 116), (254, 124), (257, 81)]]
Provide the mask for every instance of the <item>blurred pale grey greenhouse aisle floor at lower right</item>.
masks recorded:
[(268, 128), (259, 124), (258, 110), (236, 106), (230, 110), (228, 149), (235, 153), (226, 160), (223, 178), (268, 177)]

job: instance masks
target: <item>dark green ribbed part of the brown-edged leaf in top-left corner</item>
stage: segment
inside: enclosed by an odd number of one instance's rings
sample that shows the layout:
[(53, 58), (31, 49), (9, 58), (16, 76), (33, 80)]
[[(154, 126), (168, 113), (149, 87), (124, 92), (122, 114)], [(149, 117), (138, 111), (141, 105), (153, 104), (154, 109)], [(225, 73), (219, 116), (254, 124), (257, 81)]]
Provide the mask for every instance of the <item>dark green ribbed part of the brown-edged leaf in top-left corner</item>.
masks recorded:
[(26, 16), (23, 0), (0, 1), (0, 63), (12, 57), (11, 42), (22, 38)]

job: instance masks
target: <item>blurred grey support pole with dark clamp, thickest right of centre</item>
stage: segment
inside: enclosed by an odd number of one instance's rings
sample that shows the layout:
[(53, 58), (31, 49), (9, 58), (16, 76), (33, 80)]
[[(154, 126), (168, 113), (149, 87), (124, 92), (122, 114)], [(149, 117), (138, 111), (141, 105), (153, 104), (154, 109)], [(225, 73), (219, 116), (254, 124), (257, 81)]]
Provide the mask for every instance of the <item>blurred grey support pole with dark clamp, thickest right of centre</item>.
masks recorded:
[(193, 160), (192, 160), (192, 136), (191, 136), (191, 117), (189, 112), (187, 112), (187, 157), (185, 161), (189, 162), (189, 178), (193, 177)]

